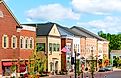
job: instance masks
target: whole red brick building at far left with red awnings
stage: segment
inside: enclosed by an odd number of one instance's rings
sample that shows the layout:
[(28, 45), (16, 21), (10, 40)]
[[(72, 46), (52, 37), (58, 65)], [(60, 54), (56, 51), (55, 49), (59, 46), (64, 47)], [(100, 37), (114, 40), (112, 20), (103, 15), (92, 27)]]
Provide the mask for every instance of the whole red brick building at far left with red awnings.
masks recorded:
[(28, 61), (34, 49), (35, 30), (21, 26), (6, 3), (0, 0), (0, 78), (10, 76), (10, 67), (18, 66), (18, 60)]

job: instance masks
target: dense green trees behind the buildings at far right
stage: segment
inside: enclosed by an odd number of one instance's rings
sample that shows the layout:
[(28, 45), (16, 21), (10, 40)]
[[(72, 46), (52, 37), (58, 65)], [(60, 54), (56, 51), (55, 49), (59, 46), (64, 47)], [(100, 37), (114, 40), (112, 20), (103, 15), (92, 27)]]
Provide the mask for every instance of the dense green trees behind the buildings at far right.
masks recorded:
[(110, 34), (99, 31), (98, 35), (109, 41), (109, 51), (121, 50), (121, 34)]

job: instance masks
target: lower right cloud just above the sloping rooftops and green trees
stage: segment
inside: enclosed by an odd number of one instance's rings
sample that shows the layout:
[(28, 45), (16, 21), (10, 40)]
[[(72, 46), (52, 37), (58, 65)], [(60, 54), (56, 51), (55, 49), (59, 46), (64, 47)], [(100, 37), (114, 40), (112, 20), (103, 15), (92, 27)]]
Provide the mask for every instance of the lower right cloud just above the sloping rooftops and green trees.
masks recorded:
[(107, 33), (121, 32), (121, 17), (107, 16), (102, 20), (93, 20), (90, 22), (78, 23), (77, 25), (91, 27), (95, 31), (104, 31)]

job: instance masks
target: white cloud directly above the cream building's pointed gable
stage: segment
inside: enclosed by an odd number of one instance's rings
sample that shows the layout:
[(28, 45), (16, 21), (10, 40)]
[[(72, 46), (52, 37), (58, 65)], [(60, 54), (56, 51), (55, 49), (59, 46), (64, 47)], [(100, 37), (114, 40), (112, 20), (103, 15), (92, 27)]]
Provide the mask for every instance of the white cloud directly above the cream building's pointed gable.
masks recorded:
[(27, 19), (42, 20), (62, 20), (73, 19), (78, 20), (80, 14), (75, 13), (70, 8), (65, 8), (60, 4), (41, 5), (27, 11)]

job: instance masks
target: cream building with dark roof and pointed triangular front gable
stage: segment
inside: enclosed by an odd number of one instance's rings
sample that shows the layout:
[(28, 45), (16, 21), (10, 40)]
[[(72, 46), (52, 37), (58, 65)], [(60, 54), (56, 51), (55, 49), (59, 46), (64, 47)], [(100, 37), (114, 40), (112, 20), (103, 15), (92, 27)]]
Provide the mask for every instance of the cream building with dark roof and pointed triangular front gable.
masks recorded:
[(55, 23), (26, 24), (36, 26), (36, 45), (44, 47), (47, 58), (46, 71), (53, 74), (61, 71), (61, 36)]

